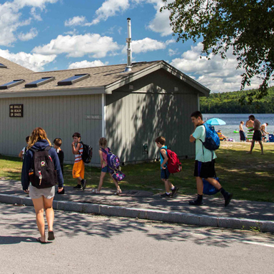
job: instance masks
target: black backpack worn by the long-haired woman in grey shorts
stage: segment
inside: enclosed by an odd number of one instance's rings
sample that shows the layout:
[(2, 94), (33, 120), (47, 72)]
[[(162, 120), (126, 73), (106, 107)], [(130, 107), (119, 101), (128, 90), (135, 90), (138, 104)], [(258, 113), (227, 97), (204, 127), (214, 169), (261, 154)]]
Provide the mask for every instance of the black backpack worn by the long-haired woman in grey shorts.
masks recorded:
[(31, 159), (31, 169), (29, 170), (29, 181), (36, 188), (51, 188), (57, 183), (57, 171), (49, 155), (51, 148), (52, 146), (47, 146), (43, 150), (29, 148), (34, 153)]

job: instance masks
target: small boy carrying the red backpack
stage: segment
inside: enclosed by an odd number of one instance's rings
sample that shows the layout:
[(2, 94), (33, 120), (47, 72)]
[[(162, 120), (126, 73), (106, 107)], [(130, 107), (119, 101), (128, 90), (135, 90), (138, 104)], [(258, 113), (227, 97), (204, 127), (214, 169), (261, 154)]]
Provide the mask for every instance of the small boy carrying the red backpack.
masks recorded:
[[(173, 172), (173, 170), (171, 170), (171, 171), (168, 170), (168, 161), (171, 162), (171, 159), (168, 158), (168, 151), (169, 150), (168, 150), (167, 146), (165, 146), (166, 138), (164, 138), (163, 136), (158, 136), (155, 139), (155, 142), (156, 142), (156, 146), (158, 146), (158, 148), (161, 148), (161, 150), (160, 150), (161, 180), (163, 181), (163, 183), (165, 183), (165, 188), (166, 188), (166, 193), (163, 193), (161, 195), (161, 197), (171, 198), (171, 197), (174, 197), (176, 195), (179, 188), (177, 188), (176, 186), (173, 186), (173, 184), (171, 183), (171, 181), (168, 180), (168, 178), (171, 175), (171, 172), (175, 173), (177, 171)], [(181, 165), (181, 163), (178, 163), (178, 165), (179, 164)], [(180, 168), (178, 168), (178, 169), (180, 169)]]

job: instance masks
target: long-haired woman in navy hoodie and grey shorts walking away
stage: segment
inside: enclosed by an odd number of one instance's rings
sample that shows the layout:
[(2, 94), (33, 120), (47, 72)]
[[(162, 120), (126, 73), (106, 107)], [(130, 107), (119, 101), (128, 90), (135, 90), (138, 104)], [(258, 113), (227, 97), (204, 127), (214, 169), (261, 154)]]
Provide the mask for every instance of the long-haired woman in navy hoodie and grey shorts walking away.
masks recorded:
[[(41, 237), (39, 243), (46, 243), (44, 210), (48, 223), (48, 240), (54, 240), (54, 201), (55, 185), (63, 191), (64, 179), (59, 158), (43, 128), (34, 128), (29, 137), (28, 151), (24, 157), (21, 184), (23, 191), (28, 191), (34, 203), (36, 223)], [(31, 182), (31, 183), (30, 183)]]

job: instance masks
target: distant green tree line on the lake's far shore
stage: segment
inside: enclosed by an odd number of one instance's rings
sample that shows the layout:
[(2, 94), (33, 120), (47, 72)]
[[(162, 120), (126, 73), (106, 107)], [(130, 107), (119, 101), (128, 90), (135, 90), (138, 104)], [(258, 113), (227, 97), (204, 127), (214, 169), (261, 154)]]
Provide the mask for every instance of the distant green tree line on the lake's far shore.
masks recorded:
[(209, 97), (200, 98), (202, 113), (274, 113), (274, 87), (268, 88), (268, 95), (263, 99), (254, 100), (248, 104), (248, 97), (244, 104), (239, 99), (250, 91), (232, 91), (212, 93)]

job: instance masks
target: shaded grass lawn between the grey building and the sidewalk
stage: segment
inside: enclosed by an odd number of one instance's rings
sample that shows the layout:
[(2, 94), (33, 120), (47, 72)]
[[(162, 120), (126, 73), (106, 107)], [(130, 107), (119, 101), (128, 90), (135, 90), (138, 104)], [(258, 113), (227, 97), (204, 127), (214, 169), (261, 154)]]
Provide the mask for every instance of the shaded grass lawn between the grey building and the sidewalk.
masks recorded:
[[(246, 154), (250, 143), (222, 142), (216, 159), (216, 173), (225, 190), (233, 192), (238, 200), (267, 201), (274, 203), (274, 143), (265, 143), (265, 155), (260, 155), (260, 146), (255, 144), (253, 154)], [(182, 194), (195, 194), (196, 181), (193, 177), (194, 159), (182, 159), (183, 172), (171, 175), (171, 181)], [(21, 180), (22, 162), (19, 158), (0, 156), (0, 178)], [(76, 185), (71, 176), (72, 165), (64, 166), (65, 186)], [(101, 169), (86, 167), (87, 186), (98, 185)], [(122, 190), (146, 190), (153, 193), (164, 191), (160, 178), (160, 163), (141, 163), (123, 167), (126, 178)], [(109, 176), (103, 188), (115, 189)], [(220, 195), (219, 193), (217, 195)]]

